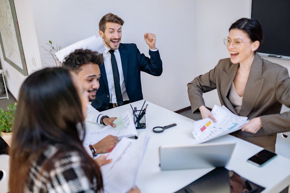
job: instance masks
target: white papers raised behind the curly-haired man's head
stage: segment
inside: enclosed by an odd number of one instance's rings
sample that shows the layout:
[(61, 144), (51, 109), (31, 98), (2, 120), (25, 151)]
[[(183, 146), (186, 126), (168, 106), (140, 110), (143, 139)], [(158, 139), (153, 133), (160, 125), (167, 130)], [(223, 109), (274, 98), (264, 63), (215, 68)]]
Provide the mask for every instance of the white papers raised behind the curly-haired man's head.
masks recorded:
[(70, 53), (74, 52), (76, 49), (89, 49), (93, 51), (97, 51), (98, 53), (102, 54), (105, 51), (105, 46), (103, 39), (101, 37), (96, 37), (95, 35), (75, 42), (65, 48), (57, 51), (56, 57), (60, 60), (60, 62), (64, 62), (64, 58), (68, 56)]

